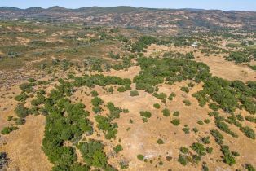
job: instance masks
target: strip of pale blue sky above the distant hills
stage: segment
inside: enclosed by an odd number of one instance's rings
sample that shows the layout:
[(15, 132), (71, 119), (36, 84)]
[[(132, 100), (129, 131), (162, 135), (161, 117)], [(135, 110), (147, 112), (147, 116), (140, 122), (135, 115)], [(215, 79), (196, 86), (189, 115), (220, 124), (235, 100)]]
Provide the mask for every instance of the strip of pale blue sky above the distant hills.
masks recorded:
[(256, 0), (0, 0), (0, 7), (154, 7), (256, 11)]

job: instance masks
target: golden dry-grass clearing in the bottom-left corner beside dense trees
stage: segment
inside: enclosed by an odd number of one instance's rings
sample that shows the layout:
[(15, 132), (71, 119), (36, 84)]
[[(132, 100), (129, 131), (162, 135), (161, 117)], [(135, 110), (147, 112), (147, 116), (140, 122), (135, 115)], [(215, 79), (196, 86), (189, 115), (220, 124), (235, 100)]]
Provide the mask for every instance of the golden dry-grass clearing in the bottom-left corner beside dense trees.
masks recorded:
[(41, 149), (44, 125), (44, 116), (28, 116), (25, 125), (3, 137), (7, 144), (1, 150), (11, 159), (8, 170), (51, 170), (52, 164)]

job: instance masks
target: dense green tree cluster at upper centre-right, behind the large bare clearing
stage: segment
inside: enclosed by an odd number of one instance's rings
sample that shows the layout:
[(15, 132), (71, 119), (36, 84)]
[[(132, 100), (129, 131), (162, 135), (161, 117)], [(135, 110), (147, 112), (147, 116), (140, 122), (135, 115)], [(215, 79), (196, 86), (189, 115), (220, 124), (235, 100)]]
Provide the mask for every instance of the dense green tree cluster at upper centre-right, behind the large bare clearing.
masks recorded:
[(141, 68), (134, 78), (136, 89), (153, 93), (155, 86), (161, 83), (172, 85), (176, 81), (204, 81), (210, 77), (209, 67), (188, 59), (139, 58)]

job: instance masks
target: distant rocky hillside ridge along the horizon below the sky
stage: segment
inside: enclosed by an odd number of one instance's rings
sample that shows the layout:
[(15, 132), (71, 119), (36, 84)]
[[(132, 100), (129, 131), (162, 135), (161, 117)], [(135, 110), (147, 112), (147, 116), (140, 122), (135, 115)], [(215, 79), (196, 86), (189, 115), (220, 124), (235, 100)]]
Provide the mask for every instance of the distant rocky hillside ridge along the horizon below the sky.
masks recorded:
[(256, 12), (135, 7), (0, 7), (1, 20), (73, 21), (155, 29), (256, 29)]

